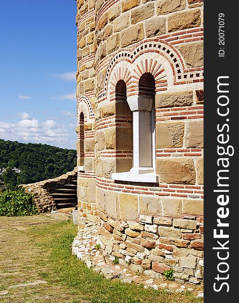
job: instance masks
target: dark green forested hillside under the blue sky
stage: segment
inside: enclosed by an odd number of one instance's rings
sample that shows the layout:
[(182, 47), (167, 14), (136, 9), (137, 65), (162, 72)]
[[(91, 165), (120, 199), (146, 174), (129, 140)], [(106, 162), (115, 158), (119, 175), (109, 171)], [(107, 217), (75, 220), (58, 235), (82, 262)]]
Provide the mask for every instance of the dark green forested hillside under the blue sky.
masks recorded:
[[(0, 178), (5, 183), (11, 181), (12, 185), (18, 185), (55, 178), (72, 171), (75, 166), (74, 149), (0, 139), (0, 169), (7, 168)], [(15, 167), (21, 172), (13, 172)]]

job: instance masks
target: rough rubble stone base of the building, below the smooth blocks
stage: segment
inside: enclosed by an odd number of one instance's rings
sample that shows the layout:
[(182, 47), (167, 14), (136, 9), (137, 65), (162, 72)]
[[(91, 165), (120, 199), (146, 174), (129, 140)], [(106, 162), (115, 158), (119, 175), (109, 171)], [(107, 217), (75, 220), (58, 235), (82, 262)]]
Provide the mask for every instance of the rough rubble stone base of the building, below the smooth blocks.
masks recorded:
[(203, 281), (203, 219), (140, 215), (136, 221), (117, 221), (98, 212), (98, 241), (105, 254), (129, 263), (135, 272), (163, 274), (173, 269), (177, 282)]

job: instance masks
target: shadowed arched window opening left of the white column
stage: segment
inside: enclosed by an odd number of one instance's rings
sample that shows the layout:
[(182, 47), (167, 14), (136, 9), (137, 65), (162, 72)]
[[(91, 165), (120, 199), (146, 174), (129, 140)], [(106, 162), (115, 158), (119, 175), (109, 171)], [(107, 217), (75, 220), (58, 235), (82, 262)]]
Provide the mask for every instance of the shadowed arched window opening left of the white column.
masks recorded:
[(126, 83), (119, 80), (115, 86), (115, 147), (116, 172), (129, 171), (132, 164), (132, 112), (127, 103)]

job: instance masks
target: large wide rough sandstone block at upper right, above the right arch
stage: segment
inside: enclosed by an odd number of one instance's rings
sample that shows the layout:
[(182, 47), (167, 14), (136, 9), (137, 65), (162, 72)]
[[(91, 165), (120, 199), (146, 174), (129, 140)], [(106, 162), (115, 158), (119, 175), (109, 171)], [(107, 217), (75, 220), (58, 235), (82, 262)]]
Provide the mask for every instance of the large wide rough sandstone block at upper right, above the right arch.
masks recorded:
[(169, 16), (168, 31), (176, 31), (201, 25), (201, 11), (190, 10)]

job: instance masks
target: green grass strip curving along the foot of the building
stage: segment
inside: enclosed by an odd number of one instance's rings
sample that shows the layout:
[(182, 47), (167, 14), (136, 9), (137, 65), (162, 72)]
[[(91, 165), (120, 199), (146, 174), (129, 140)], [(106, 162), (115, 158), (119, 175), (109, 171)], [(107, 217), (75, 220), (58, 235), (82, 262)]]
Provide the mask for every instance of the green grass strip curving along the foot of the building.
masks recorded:
[[(49, 283), (58, 283), (81, 294), (82, 299), (93, 303), (199, 303), (191, 293), (168, 293), (165, 290), (144, 289), (136, 284), (125, 284), (119, 280), (107, 280), (102, 275), (87, 269), (71, 255), (71, 243), (76, 228), (71, 222), (37, 226), (27, 231), (29, 237), (44, 250), (50, 249), (50, 271), (41, 273)], [(72, 303), (80, 301), (72, 298)]]

